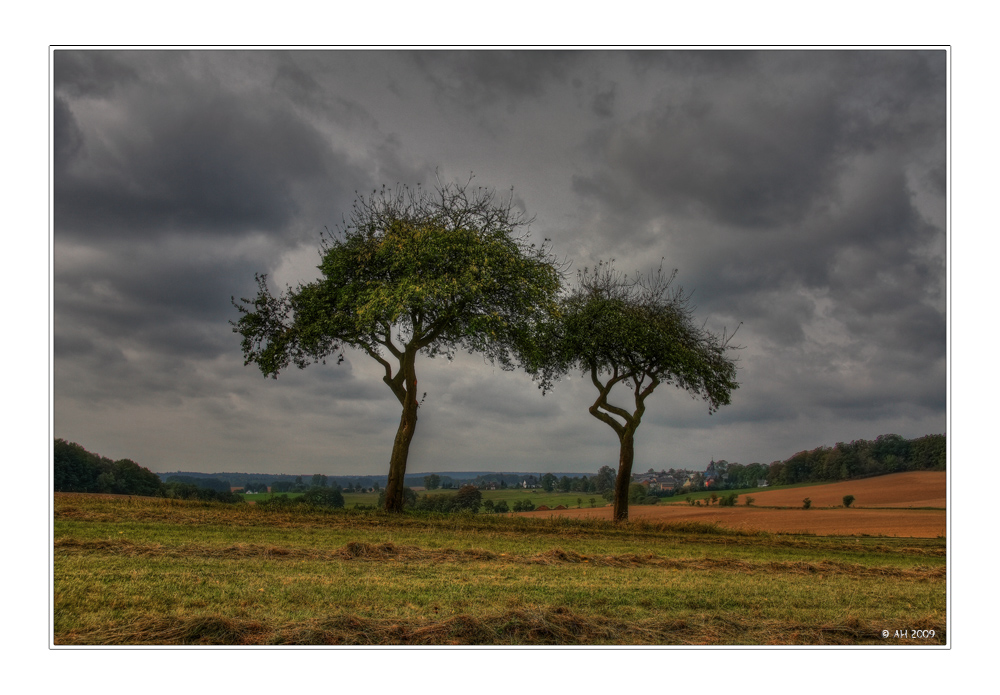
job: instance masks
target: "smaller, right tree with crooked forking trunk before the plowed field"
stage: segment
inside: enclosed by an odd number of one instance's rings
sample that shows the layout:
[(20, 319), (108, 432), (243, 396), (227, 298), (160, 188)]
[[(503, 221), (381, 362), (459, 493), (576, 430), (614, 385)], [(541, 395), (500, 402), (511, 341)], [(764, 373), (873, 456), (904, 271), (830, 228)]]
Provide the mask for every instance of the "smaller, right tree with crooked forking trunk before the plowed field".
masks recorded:
[[(597, 398), (590, 414), (619, 440), (614, 518), (628, 519), (635, 431), (646, 399), (660, 384), (673, 384), (704, 398), (709, 412), (730, 402), (738, 388), (731, 335), (716, 335), (695, 322), (690, 295), (673, 287), (676, 271), (662, 267), (629, 278), (613, 262), (579, 273), (577, 287), (561, 303), (559, 318), (543, 325), (528, 368), (548, 389), (560, 374), (589, 375)], [(611, 401), (612, 389), (632, 391), (630, 407)]]

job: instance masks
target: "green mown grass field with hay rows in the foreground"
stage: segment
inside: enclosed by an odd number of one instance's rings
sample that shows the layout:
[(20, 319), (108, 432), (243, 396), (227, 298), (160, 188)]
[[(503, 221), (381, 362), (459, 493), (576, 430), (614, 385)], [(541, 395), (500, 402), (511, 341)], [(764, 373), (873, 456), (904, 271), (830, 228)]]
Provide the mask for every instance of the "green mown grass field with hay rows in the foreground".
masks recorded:
[(946, 643), (943, 539), (60, 495), (53, 569), (57, 645)]

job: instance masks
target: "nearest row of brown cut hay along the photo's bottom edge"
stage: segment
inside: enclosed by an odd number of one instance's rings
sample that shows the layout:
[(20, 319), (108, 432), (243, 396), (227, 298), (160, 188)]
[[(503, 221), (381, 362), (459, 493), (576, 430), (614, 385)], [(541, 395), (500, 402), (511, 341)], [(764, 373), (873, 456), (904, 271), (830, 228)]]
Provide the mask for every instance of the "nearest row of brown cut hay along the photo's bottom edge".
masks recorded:
[[(944, 644), (942, 620), (924, 618), (914, 627), (933, 631), (925, 645)], [(410, 620), (334, 614), (272, 624), (218, 616), (153, 616), (108, 624), (98, 630), (73, 630), (56, 644), (186, 645), (711, 645), (808, 644), (887, 645), (875, 626), (855, 620), (809, 624), (722, 616), (620, 621), (575, 613), (566, 608), (521, 609), (492, 615), (457, 615)], [(912, 646), (912, 642), (909, 643)]]

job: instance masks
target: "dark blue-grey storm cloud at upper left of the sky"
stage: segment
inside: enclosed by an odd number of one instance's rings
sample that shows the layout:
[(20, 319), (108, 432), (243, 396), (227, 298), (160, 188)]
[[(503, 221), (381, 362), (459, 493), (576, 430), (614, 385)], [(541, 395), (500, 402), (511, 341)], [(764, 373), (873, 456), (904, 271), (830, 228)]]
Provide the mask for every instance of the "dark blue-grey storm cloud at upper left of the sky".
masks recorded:
[(143, 127), (116, 129), (114, 151), (99, 149), (108, 133), (97, 124), (79, 148), (88, 161), (69, 163), (59, 181), (60, 229), (114, 237), (280, 229), (298, 212), (298, 179), (336, 178), (328, 144), (293, 113), (203, 96), (178, 103), (144, 94), (130, 113)]

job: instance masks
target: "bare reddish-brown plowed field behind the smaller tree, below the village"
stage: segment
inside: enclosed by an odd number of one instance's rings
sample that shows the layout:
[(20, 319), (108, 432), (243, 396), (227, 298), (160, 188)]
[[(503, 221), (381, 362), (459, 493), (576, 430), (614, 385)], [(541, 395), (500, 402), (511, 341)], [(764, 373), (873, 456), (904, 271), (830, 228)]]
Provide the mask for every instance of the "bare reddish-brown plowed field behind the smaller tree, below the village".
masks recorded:
[[(743, 505), (742, 495), (739, 500), (741, 506), (737, 507), (692, 507), (683, 502), (632, 506), (629, 507), (629, 518), (663, 522), (700, 521), (727, 528), (772, 533), (937, 538), (947, 532), (946, 481), (946, 474), (939, 471), (896, 473), (791, 490), (755, 491), (750, 495), (754, 498), (753, 507)], [(845, 509), (842, 506), (844, 495), (854, 495), (854, 506), (858, 508)], [(801, 508), (805, 497), (812, 500), (811, 509)], [(522, 514), (610, 519), (611, 511), (611, 507), (607, 506)]]

